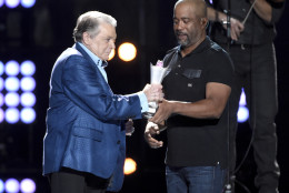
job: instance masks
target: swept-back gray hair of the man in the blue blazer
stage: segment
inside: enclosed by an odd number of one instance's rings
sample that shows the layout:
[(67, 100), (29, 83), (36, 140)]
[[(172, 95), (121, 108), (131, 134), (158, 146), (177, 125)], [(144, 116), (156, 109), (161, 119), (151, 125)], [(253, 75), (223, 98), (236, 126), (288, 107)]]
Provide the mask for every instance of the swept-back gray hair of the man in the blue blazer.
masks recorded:
[(77, 26), (73, 30), (74, 42), (82, 42), (82, 34), (88, 32), (91, 38), (99, 33), (101, 22), (117, 27), (117, 20), (109, 14), (99, 11), (88, 11), (78, 18)]

